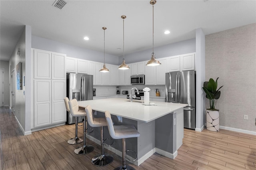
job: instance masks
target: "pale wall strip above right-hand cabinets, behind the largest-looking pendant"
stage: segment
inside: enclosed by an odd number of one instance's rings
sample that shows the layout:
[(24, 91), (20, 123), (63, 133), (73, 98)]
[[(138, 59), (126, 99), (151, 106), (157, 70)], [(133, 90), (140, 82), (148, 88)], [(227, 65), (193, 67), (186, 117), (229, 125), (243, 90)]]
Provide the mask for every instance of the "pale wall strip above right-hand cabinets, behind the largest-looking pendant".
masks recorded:
[[(125, 51), (124, 51), (125, 52)], [(154, 53), (156, 58), (170, 57), (174, 55), (194, 53), (196, 52), (196, 39), (185, 40), (182, 42), (171, 43), (168, 45), (163, 45), (160, 47), (154, 47)], [(150, 60), (152, 49), (147, 49), (145, 51), (140, 51), (131, 54), (124, 53), (124, 59), (126, 64), (135, 63), (139, 61)], [(123, 56), (119, 57), (119, 65), (123, 61)]]

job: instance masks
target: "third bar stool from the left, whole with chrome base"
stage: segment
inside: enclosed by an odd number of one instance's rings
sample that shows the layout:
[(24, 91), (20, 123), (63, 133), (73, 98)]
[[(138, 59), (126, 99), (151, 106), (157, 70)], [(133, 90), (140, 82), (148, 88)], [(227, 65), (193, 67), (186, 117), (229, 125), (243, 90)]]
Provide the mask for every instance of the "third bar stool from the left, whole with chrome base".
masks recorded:
[[(101, 154), (96, 155), (92, 158), (92, 164), (95, 166), (106, 166), (113, 162), (114, 158), (111, 154), (104, 153), (104, 133), (103, 133), (103, 127), (108, 126), (107, 121), (105, 118), (94, 118), (92, 115), (92, 107), (90, 105), (86, 106), (85, 108), (86, 115), (88, 117), (87, 121), (91, 127), (100, 127), (100, 143), (101, 143)], [(108, 140), (110, 138), (106, 138)], [(112, 140), (112, 139), (110, 139)], [(113, 141), (113, 140), (112, 140)], [(113, 142), (112, 142), (113, 144)], [(110, 144), (111, 145), (111, 144)], [(106, 145), (106, 146), (110, 146)]]

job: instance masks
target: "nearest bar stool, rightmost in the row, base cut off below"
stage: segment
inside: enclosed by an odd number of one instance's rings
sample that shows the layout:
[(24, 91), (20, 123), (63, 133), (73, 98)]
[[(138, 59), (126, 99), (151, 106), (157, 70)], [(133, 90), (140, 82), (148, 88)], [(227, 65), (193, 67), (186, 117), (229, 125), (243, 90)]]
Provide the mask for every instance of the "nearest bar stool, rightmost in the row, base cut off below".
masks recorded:
[[(113, 125), (113, 121), (111, 119), (111, 115), (109, 113), (109, 111), (105, 111), (105, 117), (106, 117), (106, 121), (108, 124), (108, 131), (110, 136), (113, 139), (122, 139), (122, 161), (123, 161), (123, 165), (122, 166), (118, 166), (116, 167), (114, 170), (135, 170), (132, 166), (128, 166), (126, 165), (126, 152), (127, 151), (131, 151), (134, 152), (133, 150), (125, 150), (126, 149), (126, 142), (125, 139), (126, 138), (136, 138), (140, 136), (140, 133), (136, 130), (136, 128), (133, 125), (117, 125), (114, 126)], [(136, 154), (136, 152), (134, 152)], [(130, 160), (129, 158), (127, 158), (128, 160)], [(134, 160), (137, 159), (137, 154), (136, 154), (136, 158)], [(134, 161), (134, 160), (130, 160), (130, 161)]]

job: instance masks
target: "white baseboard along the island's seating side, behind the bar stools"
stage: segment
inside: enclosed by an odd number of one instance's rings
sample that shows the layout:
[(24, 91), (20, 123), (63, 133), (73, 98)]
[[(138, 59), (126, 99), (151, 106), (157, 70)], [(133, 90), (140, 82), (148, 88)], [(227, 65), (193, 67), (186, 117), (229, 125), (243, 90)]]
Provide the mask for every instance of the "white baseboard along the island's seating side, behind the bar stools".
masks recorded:
[[(92, 140), (93, 142), (95, 142), (96, 144), (100, 145), (100, 140), (90, 136), (90, 135), (86, 135), (86, 138)], [(113, 148), (112, 146), (108, 146), (108, 147), (104, 147), (106, 148), (107, 150), (110, 150), (111, 152), (117, 154), (118, 156), (121, 156), (122, 157), (122, 151), (120, 150), (117, 150), (116, 148)], [(146, 159), (148, 159), (152, 154), (154, 154), (156, 152), (156, 148), (153, 148), (152, 150), (150, 150), (148, 153), (146, 153), (144, 156), (142, 156), (140, 159), (138, 160), (135, 160), (135, 161), (129, 161), (127, 160), (128, 162), (131, 162), (132, 164), (136, 165), (136, 166), (139, 166), (140, 164), (142, 164), (142, 162), (144, 162)], [(129, 157), (129, 156), (128, 156)], [(134, 159), (134, 158), (130, 158), (130, 159)]]

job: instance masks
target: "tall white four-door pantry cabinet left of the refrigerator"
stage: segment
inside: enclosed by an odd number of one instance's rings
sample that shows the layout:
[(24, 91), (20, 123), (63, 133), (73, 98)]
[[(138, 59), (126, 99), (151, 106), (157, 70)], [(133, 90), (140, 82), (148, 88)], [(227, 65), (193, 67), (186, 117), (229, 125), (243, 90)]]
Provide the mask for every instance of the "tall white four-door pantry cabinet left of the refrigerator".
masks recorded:
[(32, 49), (34, 126), (66, 122), (66, 54)]

